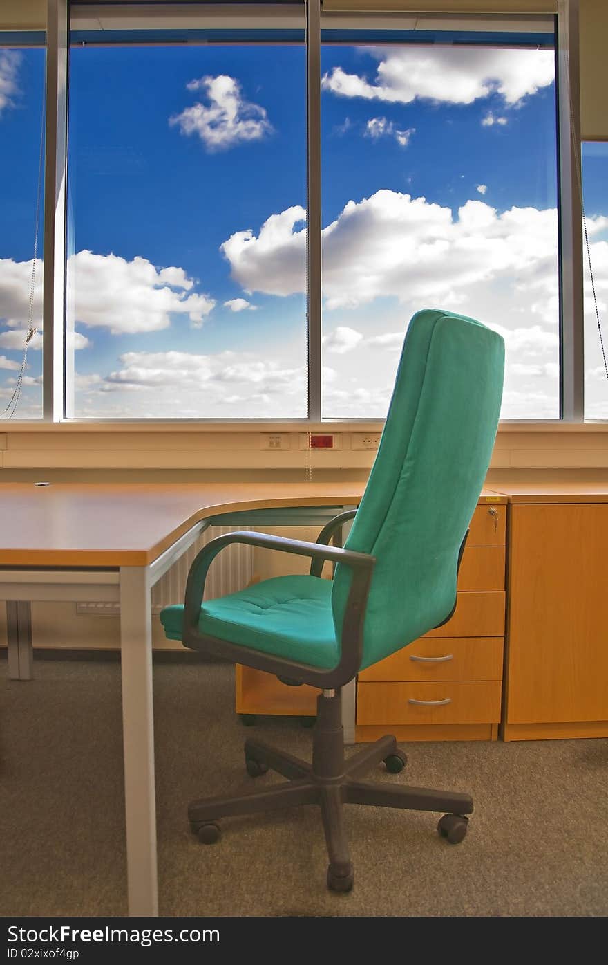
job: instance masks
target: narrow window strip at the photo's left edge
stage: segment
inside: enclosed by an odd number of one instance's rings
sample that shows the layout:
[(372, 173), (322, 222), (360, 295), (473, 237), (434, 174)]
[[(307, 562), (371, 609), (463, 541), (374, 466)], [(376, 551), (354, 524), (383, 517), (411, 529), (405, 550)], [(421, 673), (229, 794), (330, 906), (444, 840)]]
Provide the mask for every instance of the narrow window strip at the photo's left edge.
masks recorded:
[(42, 415), (43, 108), (43, 46), (3, 46), (0, 34), (0, 415), (5, 419)]

